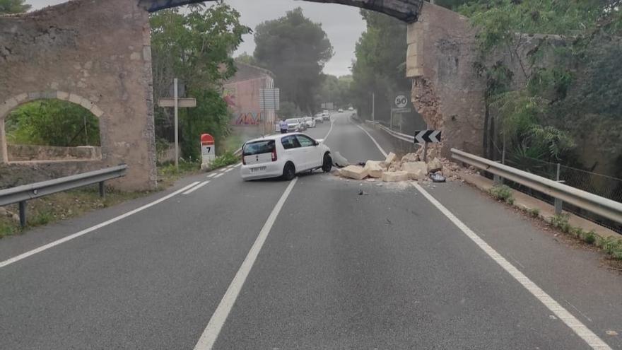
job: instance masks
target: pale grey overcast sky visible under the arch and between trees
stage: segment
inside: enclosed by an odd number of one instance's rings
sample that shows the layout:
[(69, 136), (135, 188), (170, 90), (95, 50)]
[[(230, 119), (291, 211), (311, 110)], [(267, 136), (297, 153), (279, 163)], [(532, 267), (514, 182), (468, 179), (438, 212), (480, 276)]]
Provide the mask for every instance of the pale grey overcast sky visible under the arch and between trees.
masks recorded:
[[(27, 4), (33, 5), (33, 9), (49, 5), (60, 4), (65, 0), (26, 0)], [(354, 45), (365, 30), (365, 21), (360, 17), (358, 8), (336, 4), (317, 4), (299, 0), (225, 0), (242, 15), (242, 23), (250, 28), (255, 28), (263, 21), (283, 16), (286, 11), (295, 7), (302, 7), (305, 16), (314, 22), (322, 23), (322, 28), (327, 33), (334, 47), (334, 56), (324, 67), (324, 72), (341, 76), (350, 74), (348, 66), (351, 66), (354, 58)], [(209, 4), (209, 3), (207, 3)], [(245, 35), (245, 42), (235, 53), (254, 51), (252, 35)]]

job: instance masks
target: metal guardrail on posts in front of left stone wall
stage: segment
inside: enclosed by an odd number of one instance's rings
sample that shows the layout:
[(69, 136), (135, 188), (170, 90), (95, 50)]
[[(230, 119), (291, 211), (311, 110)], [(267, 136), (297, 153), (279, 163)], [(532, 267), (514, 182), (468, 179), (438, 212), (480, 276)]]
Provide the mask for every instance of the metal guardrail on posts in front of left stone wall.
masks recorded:
[(127, 165), (122, 164), (102, 170), (89, 171), (88, 173), (59, 177), (58, 179), (54, 180), (35, 182), (28, 185), (1, 189), (0, 206), (18, 203), (20, 211), (20, 224), (23, 227), (26, 225), (27, 200), (44, 197), (57, 192), (63, 192), (68, 189), (93, 185), (95, 183), (99, 183), (100, 196), (104, 197), (104, 182), (107, 180), (116, 179), (117, 177), (125, 176), (125, 173), (127, 173)]

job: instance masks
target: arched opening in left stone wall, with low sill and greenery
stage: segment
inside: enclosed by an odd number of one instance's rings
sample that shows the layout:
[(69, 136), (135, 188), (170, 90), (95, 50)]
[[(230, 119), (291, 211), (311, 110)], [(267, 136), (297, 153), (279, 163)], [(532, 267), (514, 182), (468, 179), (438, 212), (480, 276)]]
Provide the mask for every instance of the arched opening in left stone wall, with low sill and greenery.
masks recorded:
[(70, 94), (52, 95), (27, 94), (0, 115), (4, 163), (102, 159), (100, 118), (93, 112), (97, 107), (78, 95), (72, 94), (72, 100)]

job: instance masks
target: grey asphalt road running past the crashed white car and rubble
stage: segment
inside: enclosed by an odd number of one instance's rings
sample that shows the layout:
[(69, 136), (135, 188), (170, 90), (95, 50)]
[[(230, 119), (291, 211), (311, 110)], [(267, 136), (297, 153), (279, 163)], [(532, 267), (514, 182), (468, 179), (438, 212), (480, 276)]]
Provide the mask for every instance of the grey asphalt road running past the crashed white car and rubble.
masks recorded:
[[(351, 162), (384, 158), (348, 114), (307, 134), (330, 130)], [(622, 349), (622, 279), (597, 253), (471, 187), (422, 190), (320, 172), (242, 182), (230, 168), (1, 240), (0, 349)]]

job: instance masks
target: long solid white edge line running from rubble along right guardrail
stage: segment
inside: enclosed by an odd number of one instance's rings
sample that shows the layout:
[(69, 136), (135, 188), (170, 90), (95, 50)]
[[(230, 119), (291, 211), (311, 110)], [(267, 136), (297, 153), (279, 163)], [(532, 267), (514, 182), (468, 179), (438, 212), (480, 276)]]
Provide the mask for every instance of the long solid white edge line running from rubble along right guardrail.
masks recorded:
[(462, 221), (459, 220), (451, 211), (449, 211), (445, 206), (440, 204), (431, 194), (429, 194), (423, 187), (414, 183), (413, 186), (421, 193), (424, 197), (430, 201), (442, 214), (445, 214), (447, 218), (457, 226), (460, 231), (462, 231), (467, 237), (471, 238), (471, 240), (478, 245), (481, 250), (486, 252), (488, 257), (491, 257), (500, 267), (510, 274), (510, 276), (514, 277), (518, 283), (522, 284), (522, 286), (527, 289), (530, 293), (533, 294), (536, 299), (538, 299), (541, 303), (551, 310), (562, 322), (565, 323), (570, 329), (573, 330), (581, 339), (583, 339), (587, 345), (591, 346), (592, 349), (611, 349), (609, 345), (603, 342), (596, 334), (594, 334), (591, 330), (589, 330), (585, 325), (583, 325), (577, 317), (573, 316), (563, 308), (557, 301), (553, 300), (551, 296), (549, 296), (545, 291), (543, 291), (539, 286), (536, 286), (534, 282), (532, 282), (527, 276), (525, 276), (522, 272), (520, 272), (516, 267), (514, 267), (510, 262), (502, 257), (498, 252), (496, 252), (493, 247), (488, 245), (488, 243), (484, 242), (479, 235), (476, 235), (467, 225), (464, 225)]

